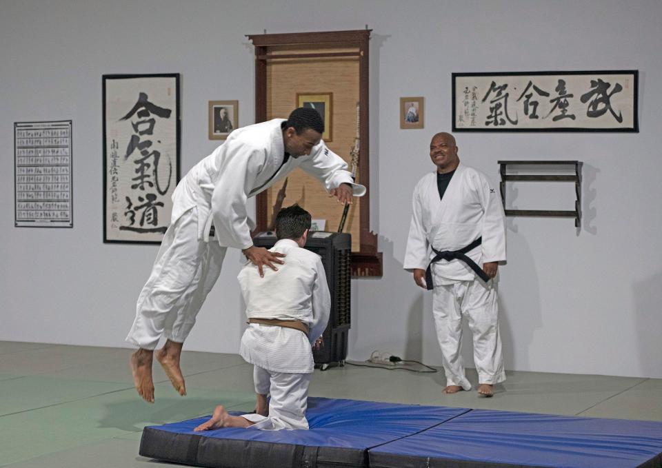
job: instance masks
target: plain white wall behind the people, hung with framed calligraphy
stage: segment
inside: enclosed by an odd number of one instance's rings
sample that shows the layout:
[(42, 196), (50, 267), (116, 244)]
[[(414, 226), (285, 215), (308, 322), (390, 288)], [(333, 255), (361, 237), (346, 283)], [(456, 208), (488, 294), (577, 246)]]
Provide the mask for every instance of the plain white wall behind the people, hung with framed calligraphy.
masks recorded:
[[(585, 163), (579, 232), (570, 219), (508, 221), (506, 367), (662, 378), (660, 18), (656, 0), (0, 0), (0, 340), (124, 345), (157, 247), (102, 243), (102, 74), (182, 74), (185, 172), (215, 145), (208, 100), (239, 99), (241, 125), (254, 121), (253, 50), (244, 34), (367, 23), (372, 226), (384, 276), (352, 281), (350, 358), (385, 349), (441, 363), (430, 295), (414, 287), (401, 259), (411, 189), (433, 169), (430, 136), (450, 128), (450, 74), (638, 69), (639, 133), (456, 136), (462, 160), (495, 182), (499, 159)], [(399, 96), (425, 96), (425, 129), (399, 130)], [(61, 119), (74, 129), (74, 227), (15, 228), (13, 123)], [(516, 202), (548, 199), (533, 197)], [(188, 349), (237, 352), (238, 265), (230, 253)]]

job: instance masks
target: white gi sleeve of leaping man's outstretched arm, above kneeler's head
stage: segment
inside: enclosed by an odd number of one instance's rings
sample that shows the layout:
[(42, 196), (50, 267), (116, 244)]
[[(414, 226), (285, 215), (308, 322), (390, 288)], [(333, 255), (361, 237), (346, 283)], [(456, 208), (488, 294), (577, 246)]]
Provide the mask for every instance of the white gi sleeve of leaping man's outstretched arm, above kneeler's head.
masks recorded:
[(310, 155), (301, 159), (299, 167), (318, 179), (327, 192), (339, 187), (341, 183), (348, 183), (352, 186), (354, 196), (365, 195), (365, 185), (354, 183), (352, 173), (347, 170), (347, 163), (329, 150), (323, 141), (312, 148)]

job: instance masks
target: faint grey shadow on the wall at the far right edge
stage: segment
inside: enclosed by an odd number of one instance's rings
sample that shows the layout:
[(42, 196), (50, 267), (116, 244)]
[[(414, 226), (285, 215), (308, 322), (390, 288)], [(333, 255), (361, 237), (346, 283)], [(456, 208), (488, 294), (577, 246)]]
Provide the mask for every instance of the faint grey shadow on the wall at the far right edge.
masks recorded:
[[(634, 321), (636, 325), (639, 372), (633, 374), (662, 378), (662, 272), (632, 285)], [(615, 337), (614, 337), (615, 338)]]

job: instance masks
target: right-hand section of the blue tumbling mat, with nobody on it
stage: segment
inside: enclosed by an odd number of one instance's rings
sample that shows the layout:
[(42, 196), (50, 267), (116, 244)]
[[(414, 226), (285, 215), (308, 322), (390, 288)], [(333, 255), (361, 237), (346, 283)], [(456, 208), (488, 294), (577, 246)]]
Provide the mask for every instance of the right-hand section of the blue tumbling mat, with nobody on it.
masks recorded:
[(370, 450), (370, 467), (659, 468), (661, 452), (662, 423), (473, 409)]

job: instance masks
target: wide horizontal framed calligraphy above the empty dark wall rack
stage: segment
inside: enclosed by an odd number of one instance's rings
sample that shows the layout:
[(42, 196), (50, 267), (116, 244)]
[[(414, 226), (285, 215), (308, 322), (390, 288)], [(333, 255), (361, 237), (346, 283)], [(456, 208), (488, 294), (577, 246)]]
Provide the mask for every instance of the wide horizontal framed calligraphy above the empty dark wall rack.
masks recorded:
[(638, 70), (453, 73), (454, 132), (639, 132)]

